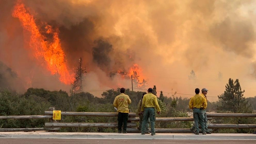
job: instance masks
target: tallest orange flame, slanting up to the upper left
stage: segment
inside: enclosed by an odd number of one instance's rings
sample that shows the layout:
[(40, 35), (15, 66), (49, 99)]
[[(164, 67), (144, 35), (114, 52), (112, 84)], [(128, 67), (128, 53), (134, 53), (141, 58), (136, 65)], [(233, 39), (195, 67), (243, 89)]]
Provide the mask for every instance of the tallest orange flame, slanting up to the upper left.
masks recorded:
[(46, 25), (46, 33), (53, 35), (51, 41), (47, 41), (46, 37), (39, 31), (33, 15), (20, 1), (15, 5), (12, 16), (19, 18), (23, 28), (31, 33), (29, 46), (33, 49), (35, 57), (43, 56), (47, 62), (47, 69), (51, 71), (52, 75), (58, 73), (61, 82), (65, 84), (72, 83), (74, 76), (69, 73), (64, 59), (65, 53), (61, 48), (59, 30)]

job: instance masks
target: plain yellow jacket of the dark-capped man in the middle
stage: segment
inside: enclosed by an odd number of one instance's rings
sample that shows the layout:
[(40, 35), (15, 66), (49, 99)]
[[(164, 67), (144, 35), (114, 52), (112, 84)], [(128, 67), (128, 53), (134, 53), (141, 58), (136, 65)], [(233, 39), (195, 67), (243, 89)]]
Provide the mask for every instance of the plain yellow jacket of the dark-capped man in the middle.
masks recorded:
[(156, 96), (151, 92), (143, 96), (141, 111), (144, 111), (144, 108), (156, 108), (157, 111), (161, 111)]

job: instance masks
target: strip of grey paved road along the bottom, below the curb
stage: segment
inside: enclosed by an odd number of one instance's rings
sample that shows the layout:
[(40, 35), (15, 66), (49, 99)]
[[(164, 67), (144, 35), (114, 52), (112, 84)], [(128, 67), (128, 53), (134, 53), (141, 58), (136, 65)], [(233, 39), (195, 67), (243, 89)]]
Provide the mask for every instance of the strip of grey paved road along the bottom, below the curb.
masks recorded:
[(109, 140), (109, 139), (0, 139), (1, 144), (255, 144), (255, 140)]

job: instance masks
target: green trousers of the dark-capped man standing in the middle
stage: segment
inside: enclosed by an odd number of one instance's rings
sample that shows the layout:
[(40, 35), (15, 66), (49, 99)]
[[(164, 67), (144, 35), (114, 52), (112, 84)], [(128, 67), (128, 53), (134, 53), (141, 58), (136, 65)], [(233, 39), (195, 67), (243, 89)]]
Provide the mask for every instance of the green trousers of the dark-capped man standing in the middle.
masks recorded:
[(145, 133), (146, 124), (148, 123), (148, 118), (150, 119), (151, 134), (155, 134), (156, 133), (156, 131), (155, 131), (155, 121), (156, 121), (155, 108), (144, 108), (141, 133)]

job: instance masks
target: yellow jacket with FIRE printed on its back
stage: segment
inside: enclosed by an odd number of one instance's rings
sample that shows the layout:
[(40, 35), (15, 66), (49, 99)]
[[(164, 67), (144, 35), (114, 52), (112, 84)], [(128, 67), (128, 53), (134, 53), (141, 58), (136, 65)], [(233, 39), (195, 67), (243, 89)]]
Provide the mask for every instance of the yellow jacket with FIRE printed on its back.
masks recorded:
[(116, 96), (113, 106), (117, 108), (117, 112), (129, 113), (128, 104), (132, 101), (130, 97), (124, 93), (121, 93)]

